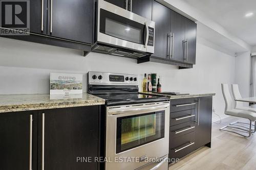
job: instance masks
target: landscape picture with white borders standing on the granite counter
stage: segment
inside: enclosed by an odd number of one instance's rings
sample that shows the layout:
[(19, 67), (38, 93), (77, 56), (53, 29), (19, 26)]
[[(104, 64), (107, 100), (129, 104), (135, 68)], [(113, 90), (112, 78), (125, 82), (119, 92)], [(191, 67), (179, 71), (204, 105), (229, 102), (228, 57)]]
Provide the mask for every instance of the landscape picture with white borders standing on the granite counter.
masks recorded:
[(82, 93), (81, 74), (50, 73), (50, 94)]

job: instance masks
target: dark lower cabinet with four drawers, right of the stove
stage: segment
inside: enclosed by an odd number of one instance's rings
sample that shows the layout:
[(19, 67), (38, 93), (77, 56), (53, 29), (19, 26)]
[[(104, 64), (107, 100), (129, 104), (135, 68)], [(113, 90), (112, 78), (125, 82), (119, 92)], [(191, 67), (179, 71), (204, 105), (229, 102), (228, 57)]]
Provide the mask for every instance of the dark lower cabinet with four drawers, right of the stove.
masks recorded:
[(212, 96), (170, 100), (169, 164), (211, 142)]

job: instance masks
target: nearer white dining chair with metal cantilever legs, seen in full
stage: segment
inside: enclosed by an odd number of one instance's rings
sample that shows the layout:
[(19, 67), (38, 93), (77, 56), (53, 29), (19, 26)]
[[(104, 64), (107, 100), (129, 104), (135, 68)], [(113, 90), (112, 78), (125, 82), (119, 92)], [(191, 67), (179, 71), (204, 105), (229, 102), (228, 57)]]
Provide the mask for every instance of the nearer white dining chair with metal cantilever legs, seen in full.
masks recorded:
[[(231, 133), (236, 133), (236, 134), (241, 135), (243, 137), (250, 137), (251, 133), (252, 133), (252, 130), (251, 130), (252, 124), (251, 124), (251, 122), (255, 122), (256, 114), (253, 113), (253, 112), (250, 112), (250, 111), (234, 109), (233, 99), (231, 98), (231, 95), (230, 95), (230, 92), (229, 92), (229, 89), (228, 89), (228, 85), (227, 84), (221, 84), (221, 86), (222, 86), (222, 93), (223, 93), (223, 97), (224, 97), (225, 105), (226, 105), (224, 113), (226, 115), (230, 115), (230, 116), (236, 116), (236, 117), (242, 117), (242, 118), (249, 119), (250, 123), (249, 123), (248, 130), (246, 128), (242, 128), (242, 127), (238, 127), (238, 126), (234, 126), (234, 125), (225, 126), (225, 127), (221, 128), (220, 130), (231, 132)], [(246, 135), (241, 134), (241, 133), (236, 132), (236, 131), (226, 130), (226, 128), (239, 129), (239, 130), (242, 130), (242, 131), (248, 133), (248, 135), (246, 136)], [(255, 126), (254, 126), (254, 129), (255, 129)]]

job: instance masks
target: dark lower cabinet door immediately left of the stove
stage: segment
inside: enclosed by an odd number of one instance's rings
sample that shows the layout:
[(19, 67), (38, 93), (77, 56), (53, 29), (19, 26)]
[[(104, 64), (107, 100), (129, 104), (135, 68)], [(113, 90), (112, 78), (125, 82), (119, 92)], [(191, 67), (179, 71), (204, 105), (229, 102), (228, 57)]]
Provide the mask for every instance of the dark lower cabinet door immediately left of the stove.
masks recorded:
[[(98, 106), (50, 109), (42, 113), (45, 114), (39, 114), (38, 119), (45, 117), (45, 169), (98, 169), (94, 161), (99, 155)], [(81, 162), (83, 157), (92, 160)]]

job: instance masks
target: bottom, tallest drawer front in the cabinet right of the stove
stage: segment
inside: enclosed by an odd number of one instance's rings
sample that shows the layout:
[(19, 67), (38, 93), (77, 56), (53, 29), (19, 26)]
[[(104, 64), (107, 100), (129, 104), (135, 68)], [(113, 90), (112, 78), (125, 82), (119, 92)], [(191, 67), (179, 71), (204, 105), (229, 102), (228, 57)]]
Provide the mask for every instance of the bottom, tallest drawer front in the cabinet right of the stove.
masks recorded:
[[(191, 132), (170, 140), (169, 158), (182, 158), (195, 150), (195, 132)], [(172, 163), (172, 162), (170, 162)]]

